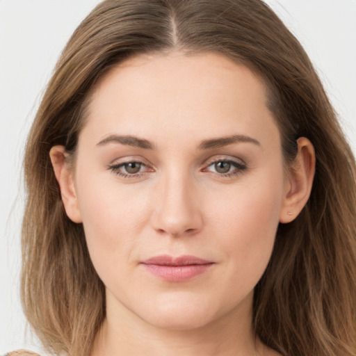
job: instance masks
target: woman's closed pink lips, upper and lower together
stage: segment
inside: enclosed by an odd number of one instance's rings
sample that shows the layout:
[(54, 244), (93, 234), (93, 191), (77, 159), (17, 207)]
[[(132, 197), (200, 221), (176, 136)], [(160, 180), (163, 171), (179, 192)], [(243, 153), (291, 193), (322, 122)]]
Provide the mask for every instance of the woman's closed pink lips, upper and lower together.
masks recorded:
[(199, 257), (184, 255), (172, 257), (168, 254), (152, 257), (140, 264), (153, 275), (167, 282), (185, 282), (207, 272), (214, 262)]

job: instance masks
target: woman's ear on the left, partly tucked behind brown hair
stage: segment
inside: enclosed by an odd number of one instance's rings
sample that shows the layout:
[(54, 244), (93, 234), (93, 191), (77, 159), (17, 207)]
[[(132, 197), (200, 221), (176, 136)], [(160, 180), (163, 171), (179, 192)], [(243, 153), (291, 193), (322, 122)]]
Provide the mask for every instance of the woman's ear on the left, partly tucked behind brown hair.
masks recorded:
[(49, 151), (49, 156), (53, 165), (54, 175), (56, 175), (60, 187), (60, 195), (62, 196), (65, 212), (74, 223), (81, 223), (81, 213), (74, 186), (74, 174), (68, 162), (69, 157), (65, 152), (65, 147), (59, 145), (52, 147)]

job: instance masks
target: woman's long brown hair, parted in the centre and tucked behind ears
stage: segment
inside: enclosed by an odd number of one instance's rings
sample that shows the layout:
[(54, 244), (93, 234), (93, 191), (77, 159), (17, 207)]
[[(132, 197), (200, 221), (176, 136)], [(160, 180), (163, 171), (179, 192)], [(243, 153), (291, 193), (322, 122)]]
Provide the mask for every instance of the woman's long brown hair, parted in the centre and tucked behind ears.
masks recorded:
[(316, 175), (302, 213), (277, 231), (255, 288), (257, 336), (282, 355), (356, 355), (355, 161), (321, 81), (298, 40), (260, 0), (106, 0), (67, 43), (29, 135), (22, 230), (22, 300), (54, 353), (90, 353), (105, 317), (104, 286), (82, 225), (67, 218), (49, 160), (75, 152), (98, 79), (136, 54), (217, 52), (261, 76), (286, 161), (296, 139), (316, 149)]

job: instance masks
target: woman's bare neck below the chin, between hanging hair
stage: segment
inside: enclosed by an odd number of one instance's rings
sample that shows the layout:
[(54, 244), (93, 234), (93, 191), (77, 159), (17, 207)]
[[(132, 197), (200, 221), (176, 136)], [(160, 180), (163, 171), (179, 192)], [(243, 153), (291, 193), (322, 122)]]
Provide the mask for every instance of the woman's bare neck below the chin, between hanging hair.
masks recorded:
[(151, 325), (125, 307), (107, 310), (91, 356), (267, 355), (252, 331), (252, 298), (245, 302), (250, 307), (230, 311), (207, 325), (181, 330)]

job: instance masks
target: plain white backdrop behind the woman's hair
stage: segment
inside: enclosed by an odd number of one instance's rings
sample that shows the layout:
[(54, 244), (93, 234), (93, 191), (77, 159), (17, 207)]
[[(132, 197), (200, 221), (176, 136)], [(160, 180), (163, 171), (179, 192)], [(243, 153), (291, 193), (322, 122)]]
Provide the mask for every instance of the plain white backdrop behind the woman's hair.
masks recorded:
[[(356, 152), (356, 0), (266, 2), (312, 58)], [(0, 354), (16, 348), (42, 353), (19, 302), (22, 156), (60, 51), (97, 3), (0, 0)]]

